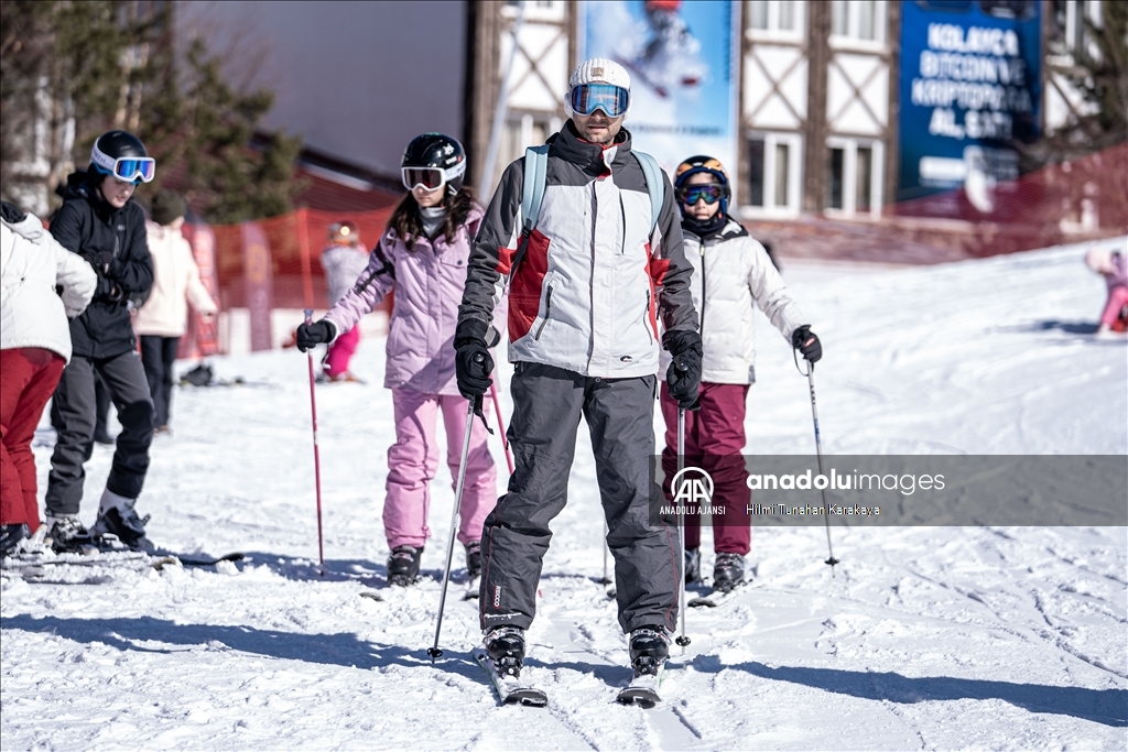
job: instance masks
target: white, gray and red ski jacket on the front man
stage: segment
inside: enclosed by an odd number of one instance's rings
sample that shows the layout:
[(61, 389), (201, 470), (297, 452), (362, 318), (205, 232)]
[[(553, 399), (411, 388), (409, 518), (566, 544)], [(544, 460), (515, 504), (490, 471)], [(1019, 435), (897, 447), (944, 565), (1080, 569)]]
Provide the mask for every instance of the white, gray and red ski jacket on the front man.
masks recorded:
[(650, 194), (626, 130), (603, 148), (582, 141), (569, 121), (548, 143), (528, 250), (511, 269), (525, 219), (519, 159), (505, 169), (474, 242), (459, 320), (488, 324), (508, 284), (511, 362), (601, 378), (654, 374), (658, 316), (666, 330), (696, 329), (669, 177), (651, 235)]

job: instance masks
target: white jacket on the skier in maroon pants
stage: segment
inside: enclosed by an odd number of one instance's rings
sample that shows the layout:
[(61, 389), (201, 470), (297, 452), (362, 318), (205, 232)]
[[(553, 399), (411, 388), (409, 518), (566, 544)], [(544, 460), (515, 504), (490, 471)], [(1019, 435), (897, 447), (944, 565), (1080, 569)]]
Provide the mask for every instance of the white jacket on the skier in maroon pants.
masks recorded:
[[(787, 343), (804, 324), (799, 306), (768, 254), (740, 223), (729, 220), (724, 229), (705, 240), (682, 230), (686, 258), (694, 267), (689, 290), (694, 297), (705, 356), (702, 381), (755, 383), (756, 330), (752, 302), (767, 315)], [(662, 352), (662, 370), (670, 355)]]

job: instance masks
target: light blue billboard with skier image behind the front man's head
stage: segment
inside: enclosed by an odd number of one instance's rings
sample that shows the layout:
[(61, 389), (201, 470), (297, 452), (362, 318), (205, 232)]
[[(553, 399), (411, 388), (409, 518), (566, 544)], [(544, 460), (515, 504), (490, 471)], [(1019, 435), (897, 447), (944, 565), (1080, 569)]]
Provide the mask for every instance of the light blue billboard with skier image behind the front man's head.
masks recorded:
[(609, 57), (631, 72), (626, 127), (637, 149), (670, 174), (703, 153), (734, 172), (740, 3), (580, 2), (579, 23), (581, 60)]

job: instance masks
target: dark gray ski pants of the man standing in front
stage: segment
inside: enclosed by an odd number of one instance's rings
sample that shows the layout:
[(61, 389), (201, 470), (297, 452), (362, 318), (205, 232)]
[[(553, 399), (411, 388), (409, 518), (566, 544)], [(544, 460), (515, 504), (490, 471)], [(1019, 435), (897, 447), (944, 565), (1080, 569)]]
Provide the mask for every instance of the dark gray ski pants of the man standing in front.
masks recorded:
[[(509, 493), (482, 530), (482, 628), (528, 629), (536, 613), (548, 523), (567, 503), (580, 416), (588, 422), (596, 477), (615, 557), (615, 592), (624, 632), (672, 630), (681, 561), (677, 531), (650, 523), (661, 503), (654, 480), (655, 377), (599, 379), (535, 363), (513, 373)], [(598, 524), (592, 521), (592, 524)], [(592, 529), (594, 532), (594, 528)]]

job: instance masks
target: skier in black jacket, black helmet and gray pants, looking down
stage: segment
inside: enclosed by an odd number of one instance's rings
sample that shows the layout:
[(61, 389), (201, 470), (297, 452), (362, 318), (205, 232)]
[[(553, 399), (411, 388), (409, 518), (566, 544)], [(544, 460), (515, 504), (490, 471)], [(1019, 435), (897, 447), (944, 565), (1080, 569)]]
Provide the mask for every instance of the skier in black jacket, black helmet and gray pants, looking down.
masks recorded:
[[(54, 399), (62, 431), (47, 478), (47, 537), (56, 550), (81, 547), (106, 533), (131, 547), (147, 543), (134, 505), (149, 470), (153, 433), (152, 397), (136, 353), (130, 320), (133, 301), (152, 286), (152, 259), (146, 240), (144, 212), (133, 191), (152, 180), (156, 160), (132, 133), (109, 131), (94, 142), (90, 167), (67, 178), (63, 205), (51, 235), (82, 256), (98, 275), (94, 300), (71, 320), (74, 353)], [(122, 433), (90, 531), (78, 513), (82, 501), (87, 448), (94, 440), (95, 373), (109, 388)]]

